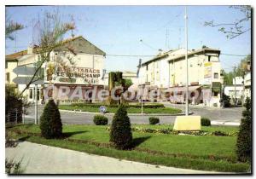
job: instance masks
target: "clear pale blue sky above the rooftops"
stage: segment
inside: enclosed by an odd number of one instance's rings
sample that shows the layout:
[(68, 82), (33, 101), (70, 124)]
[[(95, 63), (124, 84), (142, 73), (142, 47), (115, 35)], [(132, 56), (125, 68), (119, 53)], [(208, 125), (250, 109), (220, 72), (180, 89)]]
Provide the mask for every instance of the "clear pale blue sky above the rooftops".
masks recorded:
[[(26, 49), (32, 43), (32, 22), (44, 12), (58, 9), (63, 20), (73, 14), (77, 29), (82, 35), (106, 52), (108, 71), (137, 71), (140, 57), (111, 55), (156, 55), (158, 49), (177, 49), (184, 43), (183, 6), (38, 6), (8, 7), (11, 20), (26, 26), (16, 32), (16, 41), (6, 40), (6, 54)], [(189, 49), (202, 45), (220, 49), (224, 54), (247, 55), (251, 52), (251, 34), (246, 32), (234, 39), (225, 38), (218, 28), (203, 26), (204, 21), (230, 23), (241, 19), (242, 14), (228, 6), (188, 6)], [(251, 26), (247, 21), (245, 26)], [(168, 38), (166, 38), (168, 32)], [(67, 38), (70, 37), (67, 34)], [(143, 43), (140, 43), (143, 39)], [(167, 39), (167, 40), (166, 40)], [(167, 43), (166, 43), (167, 42)], [(16, 48), (15, 48), (16, 47)], [(150, 57), (141, 57), (148, 61)], [(239, 63), (242, 57), (220, 55), (225, 71)]]

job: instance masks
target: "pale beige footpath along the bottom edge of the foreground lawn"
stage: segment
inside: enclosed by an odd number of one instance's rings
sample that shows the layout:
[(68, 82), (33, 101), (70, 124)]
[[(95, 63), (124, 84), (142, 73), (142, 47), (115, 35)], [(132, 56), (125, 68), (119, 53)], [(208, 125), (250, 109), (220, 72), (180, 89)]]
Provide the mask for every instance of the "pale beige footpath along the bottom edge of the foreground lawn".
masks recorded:
[(113, 159), (89, 153), (20, 141), (5, 148), (7, 159), (21, 161), (24, 174), (217, 174)]

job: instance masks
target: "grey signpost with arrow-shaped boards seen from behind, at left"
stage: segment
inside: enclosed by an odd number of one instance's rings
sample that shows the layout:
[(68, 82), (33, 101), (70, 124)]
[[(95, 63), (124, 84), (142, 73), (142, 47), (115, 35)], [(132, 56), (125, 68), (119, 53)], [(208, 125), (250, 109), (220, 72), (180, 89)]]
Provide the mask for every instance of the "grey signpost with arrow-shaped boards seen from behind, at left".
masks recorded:
[[(13, 79), (15, 84), (29, 84), (32, 80), (32, 76), (36, 73), (37, 68), (35, 67), (26, 67), (26, 66), (17, 66), (13, 70), (18, 77)], [(44, 84), (44, 80), (41, 79), (41, 74), (44, 72), (44, 68), (40, 68), (33, 78), (32, 84), (35, 84), (35, 124), (38, 124), (38, 84)], [(24, 75), (19, 77), (19, 75)]]

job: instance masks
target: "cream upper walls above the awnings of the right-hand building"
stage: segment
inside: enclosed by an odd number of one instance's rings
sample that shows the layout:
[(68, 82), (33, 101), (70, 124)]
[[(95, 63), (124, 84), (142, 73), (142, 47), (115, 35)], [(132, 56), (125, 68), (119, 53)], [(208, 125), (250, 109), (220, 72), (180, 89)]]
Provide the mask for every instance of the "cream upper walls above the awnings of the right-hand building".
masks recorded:
[[(189, 85), (208, 85), (212, 91), (212, 82), (223, 84), (221, 65), (217, 49), (189, 50)], [(147, 88), (168, 89), (182, 87), (187, 83), (185, 49), (170, 50), (156, 56), (155, 59), (143, 63), (140, 70), (139, 84), (146, 84)], [(182, 56), (182, 58), (178, 58)], [(210, 56), (210, 57), (209, 57)], [(147, 85), (148, 83), (149, 85)], [(220, 92), (210, 96), (207, 106), (220, 107)]]

